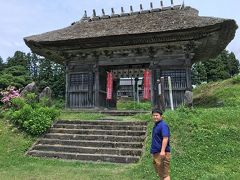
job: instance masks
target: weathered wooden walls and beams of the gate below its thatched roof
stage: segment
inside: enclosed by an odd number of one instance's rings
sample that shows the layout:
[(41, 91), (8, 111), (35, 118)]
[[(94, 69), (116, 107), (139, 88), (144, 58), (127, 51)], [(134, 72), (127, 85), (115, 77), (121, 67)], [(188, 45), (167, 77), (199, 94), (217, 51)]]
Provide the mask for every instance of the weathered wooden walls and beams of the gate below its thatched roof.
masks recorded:
[[(188, 44), (187, 44), (188, 45)], [(164, 77), (165, 106), (170, 107), (167, 78), (172, 79), (173, 103), (183, 103), (186, 89), (191, 89), (191, 63), (183, 43), (159, 46), (131, 46), (102, 51), (71, 52), (66, 64), (66, 106), (69, 108), (115, 108), (120, 78), (143, 77), (151, 71), (151, 101), (158, 105), (158, 81)], [(111, 56), (109, 55), (111, 54)], [(131, 56), (130, 56), (131, 55)], [(79, 59), (79, 60), (78, 60)], [(80, 63), (81, 62), (81, 63)], [(113, 74), (113, 99), (106, 100), (107, 72)]]

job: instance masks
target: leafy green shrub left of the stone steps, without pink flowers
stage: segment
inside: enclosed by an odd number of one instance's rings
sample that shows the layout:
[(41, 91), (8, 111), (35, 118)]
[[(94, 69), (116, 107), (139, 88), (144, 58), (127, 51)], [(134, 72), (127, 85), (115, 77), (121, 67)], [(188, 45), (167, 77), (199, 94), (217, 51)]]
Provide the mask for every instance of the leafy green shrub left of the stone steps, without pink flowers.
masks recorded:
[(7, 110), (5, 117), (31, 135), (41, 135), (46, 132), (60, 115), (56, 108), (38, 103), (33, 93), (27, 94), (26, 98), (14, 98), (11, 103), (12, 107)]

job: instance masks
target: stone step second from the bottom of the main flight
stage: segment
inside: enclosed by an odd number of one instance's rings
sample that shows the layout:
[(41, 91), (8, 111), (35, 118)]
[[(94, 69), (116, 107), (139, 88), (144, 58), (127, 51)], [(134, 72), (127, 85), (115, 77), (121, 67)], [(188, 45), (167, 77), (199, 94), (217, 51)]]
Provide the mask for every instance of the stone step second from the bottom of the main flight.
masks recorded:
[(81, 154), (109, 154), (119, 156), (141, 156), (142, 153), (142, 149), (99, 148), (99, 147), (63, 146), (63, 145), (35, 145), (33, 150), (69, 152)]

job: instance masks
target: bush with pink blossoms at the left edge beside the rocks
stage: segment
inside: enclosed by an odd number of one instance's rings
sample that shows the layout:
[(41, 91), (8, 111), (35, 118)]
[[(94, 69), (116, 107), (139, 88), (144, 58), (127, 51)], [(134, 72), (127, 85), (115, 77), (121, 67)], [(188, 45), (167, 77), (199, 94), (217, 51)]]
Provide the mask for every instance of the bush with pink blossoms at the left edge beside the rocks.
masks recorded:
[(16, 90), (14, 86), (9, 86), (5, 91), (0, 92), (3, 96), (1, 102), (7, 107), (11, 105), (11, 100), (16, 97), (20, 97), (19, 90)]

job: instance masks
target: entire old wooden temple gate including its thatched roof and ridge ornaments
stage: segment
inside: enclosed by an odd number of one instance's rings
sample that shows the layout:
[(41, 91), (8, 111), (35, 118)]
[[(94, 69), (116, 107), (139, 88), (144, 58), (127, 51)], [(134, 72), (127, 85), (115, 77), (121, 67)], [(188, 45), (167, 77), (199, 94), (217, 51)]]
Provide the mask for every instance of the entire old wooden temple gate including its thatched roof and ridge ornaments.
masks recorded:
[[(159, 79), (170, 76), (173, 104), (191, 89), (191, 66), (216, 57), (234, 38), (236, 22), (201, 17), (191, 7), (171, 6), (84, 17), (71, 26), (24, 38), (31, 50), (66, 66), (66, 107), (116, 107), (120, 76), (151, 70), (151, 101), (159, 104)], [(106, 102), (107, 72), (114, 74), (113, 101)], [(119, 73), (119, 74), (118, 74)], [(133, 73), (134, 74), (134, 73)], [(119, 76), (120, 75), (120, 76)], [(140, 74), (139, 74), (140, 75)], [(168, 84), (165, 102), (170, 106)]]

